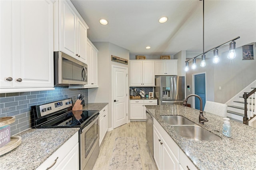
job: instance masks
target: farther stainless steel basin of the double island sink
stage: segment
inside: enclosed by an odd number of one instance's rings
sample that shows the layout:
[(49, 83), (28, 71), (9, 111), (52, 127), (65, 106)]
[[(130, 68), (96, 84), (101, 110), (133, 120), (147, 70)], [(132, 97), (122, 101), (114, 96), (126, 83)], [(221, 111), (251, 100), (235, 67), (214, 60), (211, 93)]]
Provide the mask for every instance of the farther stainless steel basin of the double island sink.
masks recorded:
[(168, 124), (171, 125), (192, 125), (194, 124), (190, 120), (182, 117), (182, 116), (161, 116), (161, 118)]

